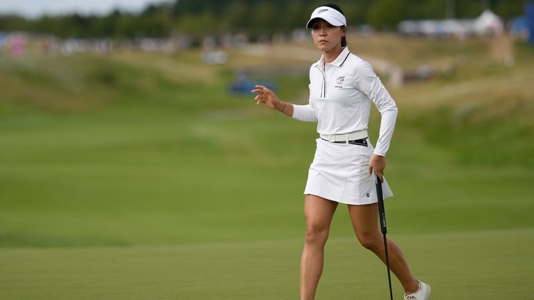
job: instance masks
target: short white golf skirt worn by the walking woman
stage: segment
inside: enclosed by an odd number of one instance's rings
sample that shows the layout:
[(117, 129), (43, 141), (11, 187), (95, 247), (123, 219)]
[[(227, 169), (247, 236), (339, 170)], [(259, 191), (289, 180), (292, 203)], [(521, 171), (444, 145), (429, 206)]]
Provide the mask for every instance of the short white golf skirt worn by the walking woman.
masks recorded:
[[(377, 203), (374, 175), (369, 175), (369, 159), (373, 145), (330, 143), (317, 139), (317, 148), (309, 166), (304, 194), (346, 203), (365, 205)], [(393, 196), (387, 181), (382, 183), (384, 198)]]

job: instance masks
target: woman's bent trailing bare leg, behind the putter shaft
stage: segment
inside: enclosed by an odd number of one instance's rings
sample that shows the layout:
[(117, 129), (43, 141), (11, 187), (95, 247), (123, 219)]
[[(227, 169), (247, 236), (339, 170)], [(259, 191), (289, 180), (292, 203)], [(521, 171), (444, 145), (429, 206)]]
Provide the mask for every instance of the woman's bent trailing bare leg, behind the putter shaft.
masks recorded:
[[(386, 262), (384, 237), (378, 228), (378, 204), (348, 205), (348, 212), (360, 244)], [(412, 294), (419, 288), (419, 282), (410, 272), (401, 248), (388, 239), (387, 251), (389, 269), (401, 282), (405, 293)]]

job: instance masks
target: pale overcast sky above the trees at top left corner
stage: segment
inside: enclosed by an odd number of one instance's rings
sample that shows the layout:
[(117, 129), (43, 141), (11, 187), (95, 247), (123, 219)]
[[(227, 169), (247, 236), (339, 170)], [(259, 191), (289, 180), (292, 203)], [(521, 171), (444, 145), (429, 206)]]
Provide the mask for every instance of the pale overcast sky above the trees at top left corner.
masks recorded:
[(173, 2), (171, 0), (0, 0), (0, 15), (18, 13), (26, 17), (38, 17), (44, 13), (105, 14), (115, 8), (139, 11), (148, 3)]

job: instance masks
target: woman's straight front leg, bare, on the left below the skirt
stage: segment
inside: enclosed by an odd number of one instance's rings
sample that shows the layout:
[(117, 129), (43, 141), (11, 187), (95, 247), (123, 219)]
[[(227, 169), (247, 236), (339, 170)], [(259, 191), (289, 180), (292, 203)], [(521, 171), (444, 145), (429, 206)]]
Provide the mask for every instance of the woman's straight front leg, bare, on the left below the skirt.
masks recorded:
[(306, 244), (300, 260), (300, 300), (312, 300), (323, 272), (324, 249), (337, 202), (306, 195)]

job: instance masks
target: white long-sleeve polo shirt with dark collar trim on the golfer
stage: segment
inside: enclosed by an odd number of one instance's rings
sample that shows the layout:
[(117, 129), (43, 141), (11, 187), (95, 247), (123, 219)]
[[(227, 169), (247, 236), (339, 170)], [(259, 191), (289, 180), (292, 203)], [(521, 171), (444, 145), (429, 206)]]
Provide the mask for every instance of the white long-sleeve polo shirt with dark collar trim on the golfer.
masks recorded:
[(398, 110), (369, 63), (345, 47), (332, 63), (325, 64), (321, 56), (309, 69), (309, 82), (309, 104), (293, 104), (293, 118), (317, 122), (319, 134), (367, 130), (372, 101), (381, 115), (373, 153), (386, 155)]

